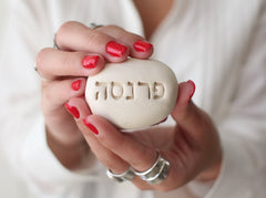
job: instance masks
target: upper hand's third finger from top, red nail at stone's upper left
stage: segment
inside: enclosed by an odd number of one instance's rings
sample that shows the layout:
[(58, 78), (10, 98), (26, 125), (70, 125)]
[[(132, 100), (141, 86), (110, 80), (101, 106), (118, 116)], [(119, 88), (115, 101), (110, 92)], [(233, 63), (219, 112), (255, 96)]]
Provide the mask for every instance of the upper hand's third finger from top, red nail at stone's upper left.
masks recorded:
[(90, 76), (99, 73), (103, 66), (103, 56), (93, 53), (43, 49), (37, 56), (38, 73), (47, 80), (59, 76)]

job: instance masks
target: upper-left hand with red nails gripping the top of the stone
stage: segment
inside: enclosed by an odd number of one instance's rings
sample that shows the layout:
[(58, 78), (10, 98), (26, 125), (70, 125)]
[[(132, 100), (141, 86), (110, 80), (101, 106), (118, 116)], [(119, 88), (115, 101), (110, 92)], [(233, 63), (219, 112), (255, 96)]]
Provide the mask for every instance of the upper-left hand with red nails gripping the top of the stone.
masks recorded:
[(99, 73), (105, 62), (123, 62), (129, 55), (149, 59), (153, 48), (142, 37), (119, 27), (92, 30), (79, 22), (62, 24), (55, 42), (60, 50), (43, 49), (37, 56), (37, 70), (42, 77), (41, 106), (48, 145), (71, 169), (80, 165), (89, 149), (75, 123), (82, 122), (83, 115), (71, 105), (71, 98), (84, 100), (86, 77)]

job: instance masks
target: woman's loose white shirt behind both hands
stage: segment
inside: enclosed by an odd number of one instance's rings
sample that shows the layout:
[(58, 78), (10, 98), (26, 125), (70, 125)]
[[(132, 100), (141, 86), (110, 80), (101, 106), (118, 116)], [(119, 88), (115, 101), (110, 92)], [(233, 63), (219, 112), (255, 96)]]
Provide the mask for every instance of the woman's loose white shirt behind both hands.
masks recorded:
[[(194, 102), (215, 122), (223, 166), (211, 183), (171, 191), (140, 191), (115, 184), (105, 167), (65, 169), (45, 142), (37, 53), (52, 46), (69, 20), (116, 24), (143, 35), (131, 0), (20, 0), (14, 4), (0, 64), (1, 146), (37, 197), (263, 198), (266, 194), (266, 3), (264, 0), (176, 0), (151, 42), (153, 58), (180, 82), (196, 84)], [(93, 161), (93, 160), (91, 160)]]

